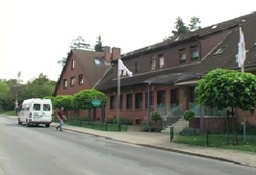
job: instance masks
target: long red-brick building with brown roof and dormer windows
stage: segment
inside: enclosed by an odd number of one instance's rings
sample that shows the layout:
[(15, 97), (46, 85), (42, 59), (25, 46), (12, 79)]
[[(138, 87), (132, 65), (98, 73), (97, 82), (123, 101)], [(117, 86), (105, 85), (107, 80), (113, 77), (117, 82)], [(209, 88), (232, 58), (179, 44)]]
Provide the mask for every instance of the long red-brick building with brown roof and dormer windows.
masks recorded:
[[(243, 15), (121, 55), (120, 59), (134, 76), (120, 78), (118, 110), (120, 116), (131, 119), (136, 124), (148, 122), (149, 113), (153, 111), (160, 112), (166, 124), (169, 124), (171, 117), (181, 117), (181, 113), (185, 110), (192, 110), (199, 116), (199, 106), (195, 103), (193, 91), (196, 82), (215, 68), (241, 71), (236, 61), (240, 26), (243, 28), (247, 51), (244, 71), (255, 74), (256, 13)], [(110, 51), (110, 48), (106, 50)], [(114, 59), (111, 59), (110, 52), (90, 53), (71, 50), (55, 95), (73, 94), (81, 89), (95, 87), (109, 97), (104, 112), (105, 117), (116, 117), (117, 58), (120, 52), (114, 50), (112, 53), (116, 53)], [(112, 64), (97, 66), (94, 64), (95, 58), (102, 63), (111, 61)], [(72, 70), (73, 61), (78, 69)], [(77, 84), (80, 75), (84, 78), (83, 87)], [(75, 77), (77, 87), (71, 86), (72, 77)], [(247, 120), (256, 125), (254, 115), (248, 112), (237, 113), (246, 115)], [(204, 119), (201, 127), (217, 131), (225, 129), (226, 112), (205, 109), (204, 116), (207, 118)], [(191, 123), (194, 127), (198, 127), (200, 123), (198, 119), (199, 117)], [(213, 120), (215, 122), (212, 122)]]

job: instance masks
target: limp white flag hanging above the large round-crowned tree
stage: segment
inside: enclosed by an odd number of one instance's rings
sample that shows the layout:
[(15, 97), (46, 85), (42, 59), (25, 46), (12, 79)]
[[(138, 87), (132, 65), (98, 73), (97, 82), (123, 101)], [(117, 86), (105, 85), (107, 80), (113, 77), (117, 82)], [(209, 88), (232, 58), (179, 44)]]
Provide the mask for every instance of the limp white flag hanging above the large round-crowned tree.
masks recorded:
[(245, 42), (244, 42), (242, 28), (240, 27), (239, 30), (240, 30), (240, 40), (239, 40), (238, 63), (239, 63), (239, 67), (242, 67), (246, 59), (246, 56), (245, 56), (246, 50), (245, 50)]

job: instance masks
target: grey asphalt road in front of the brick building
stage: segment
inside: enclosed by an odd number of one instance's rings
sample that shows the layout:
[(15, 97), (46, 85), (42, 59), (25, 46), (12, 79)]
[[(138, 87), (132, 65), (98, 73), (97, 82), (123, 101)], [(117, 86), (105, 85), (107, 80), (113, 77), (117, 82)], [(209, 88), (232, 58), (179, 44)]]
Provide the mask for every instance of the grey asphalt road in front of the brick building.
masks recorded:
[(255, 175), (256, 168), (0, 116), (1, 175)]

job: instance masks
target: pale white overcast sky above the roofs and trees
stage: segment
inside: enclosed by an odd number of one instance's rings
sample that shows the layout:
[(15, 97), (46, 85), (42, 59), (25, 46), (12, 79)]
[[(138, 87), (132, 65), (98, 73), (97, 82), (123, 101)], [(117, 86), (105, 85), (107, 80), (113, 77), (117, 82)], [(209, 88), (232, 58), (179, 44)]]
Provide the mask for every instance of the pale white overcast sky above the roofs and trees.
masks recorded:
[(171, 36), (180, 16), (201, 27), (256, 11), (255, 0), (0, 0), (0, 79), (23, 83), (39, 73), (57, 81), (72, 39), (103, 45), (121, 54)]

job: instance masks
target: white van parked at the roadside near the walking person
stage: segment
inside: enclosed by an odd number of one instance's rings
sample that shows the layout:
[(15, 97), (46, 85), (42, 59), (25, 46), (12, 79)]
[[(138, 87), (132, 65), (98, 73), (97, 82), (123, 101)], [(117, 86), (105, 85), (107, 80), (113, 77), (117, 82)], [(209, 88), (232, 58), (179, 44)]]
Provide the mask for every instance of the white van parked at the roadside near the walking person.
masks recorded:
[(24, 100), (18, 115), (18, 124), (26, 126), (52, 123), (52, 101), (50, 99), (32, 98)]

